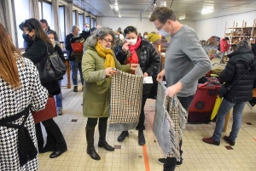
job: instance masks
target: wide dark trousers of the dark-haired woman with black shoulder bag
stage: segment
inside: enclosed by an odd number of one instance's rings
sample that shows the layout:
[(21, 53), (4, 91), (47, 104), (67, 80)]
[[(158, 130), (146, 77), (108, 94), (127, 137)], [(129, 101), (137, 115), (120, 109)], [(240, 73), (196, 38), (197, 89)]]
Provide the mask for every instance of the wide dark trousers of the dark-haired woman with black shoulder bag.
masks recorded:
[[(51, 118), (42, 122), (47, 133), (46, 145), (52, 150), (65, 150), (67, 148), (66, 141), (61, 133), (61, 129)], [(36, 123), (36, 135), (38, 139), (38, 150), (42, 150), (44, 147), (44, 137), (41, 130), (40, 123)]]

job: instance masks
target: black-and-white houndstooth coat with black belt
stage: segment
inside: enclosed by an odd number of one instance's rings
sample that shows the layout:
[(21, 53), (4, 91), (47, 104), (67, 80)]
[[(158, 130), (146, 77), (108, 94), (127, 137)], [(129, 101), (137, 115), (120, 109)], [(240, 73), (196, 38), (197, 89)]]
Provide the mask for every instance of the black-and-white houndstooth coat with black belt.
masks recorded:
[[(44, 109), (48, 99), (48, 91), (44, 88), (38, 77), (38, 70), (31, 60), (26, 58), (17, 60), (17, 66), (20, 76), (21, 86), (18, 89), (11, 88), (2, 77), (0, 77), (0, 120), (14, 116), (23, 111), (28, 105), (31, 105), (32, 111)], [(24, 117), (24, 116), (23, 116)], [(20, 125), (23, 121), (20, 117), (13, 124)], [(38, 143), (36, 139), (35, 123), (32, 114), (27, 117), (25, 127), (32, 137), (36, 148)], [(33, 171), (38, 169), (38, 157), (27, 162), (20, 167), (18, 155), (18, 129), (0, 126), (0, 170), (4, 171)]]

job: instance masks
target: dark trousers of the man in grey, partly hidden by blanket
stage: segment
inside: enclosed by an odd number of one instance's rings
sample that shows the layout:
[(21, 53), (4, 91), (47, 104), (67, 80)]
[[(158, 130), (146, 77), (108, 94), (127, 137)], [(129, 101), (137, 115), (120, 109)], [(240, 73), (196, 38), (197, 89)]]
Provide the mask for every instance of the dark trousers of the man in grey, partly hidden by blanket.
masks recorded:
[[(180, 101), (181, 105), (183, 105), (183, 108), (186, 111), (189, 111), (189, 106), (191, 105), (194, 95), (191, 95), (189, 97), (177, 97), (177, 99)], [(183, 145), (183, 141), (181, 140), (179, 142), (179, 152), (180, 155), (182, 155), (183, 151), (181, 150), (181, 147)], [(164, 171), (173, 171), (176, 168), (176, 162), (177, 159), (175, 157), (167, 157), (166, 162), (164, 164)]]

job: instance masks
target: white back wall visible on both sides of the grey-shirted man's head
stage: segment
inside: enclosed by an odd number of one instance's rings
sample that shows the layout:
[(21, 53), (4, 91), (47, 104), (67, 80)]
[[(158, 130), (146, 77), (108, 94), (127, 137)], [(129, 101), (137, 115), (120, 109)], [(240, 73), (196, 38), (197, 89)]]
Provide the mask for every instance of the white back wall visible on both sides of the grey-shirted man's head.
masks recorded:
[[(194, 28), (193, 21), (182, 21), (181, 23), (191, 26)], [(142, 33), (145, 31), (151, 32), (156, 31), (154, 23), (150, 22), (148, 19), (143, 19), (142, 22), (138, 18), (118, 18), (118, 17), (97, 17), (97, 24), (101, 26), (108, 26), (116, 31), (119, 27), (124, 31), (126, 26), (135, 26), (137, 30)]]

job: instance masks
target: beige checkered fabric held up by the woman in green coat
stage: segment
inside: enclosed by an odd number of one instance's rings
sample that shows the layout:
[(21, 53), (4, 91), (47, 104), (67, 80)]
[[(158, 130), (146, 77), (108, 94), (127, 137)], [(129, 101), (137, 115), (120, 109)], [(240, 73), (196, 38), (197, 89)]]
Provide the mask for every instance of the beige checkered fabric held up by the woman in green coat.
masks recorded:
[(117, 70), (111, 80), (110, 131), (125, 131), (137, 126), (142, 108), (143, 71), (135, 75)]

